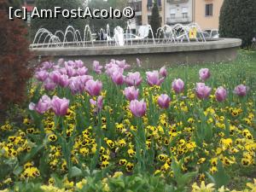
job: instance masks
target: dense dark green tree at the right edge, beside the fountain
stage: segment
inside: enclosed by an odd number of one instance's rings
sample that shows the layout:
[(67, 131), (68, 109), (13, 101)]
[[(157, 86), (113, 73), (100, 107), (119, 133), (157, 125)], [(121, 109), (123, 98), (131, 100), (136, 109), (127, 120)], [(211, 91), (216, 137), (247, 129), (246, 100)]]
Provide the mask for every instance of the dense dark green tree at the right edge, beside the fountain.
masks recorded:
[(241, 38), (249, 47), (256, 36), (256, 1), (224, 0), (219, 16), (219, 32), (223, 38)]

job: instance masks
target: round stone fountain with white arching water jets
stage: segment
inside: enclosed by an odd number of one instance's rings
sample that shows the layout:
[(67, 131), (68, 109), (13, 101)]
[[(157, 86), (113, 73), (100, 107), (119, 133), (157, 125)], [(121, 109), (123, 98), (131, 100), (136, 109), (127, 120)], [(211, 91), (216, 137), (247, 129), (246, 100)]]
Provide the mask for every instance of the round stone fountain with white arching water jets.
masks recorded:
[[(192, 31), (196, 33), (193, 37)], [(125, 32), (120, 26), (114, 27), (112, 32), (113, 37), (107, 25), (106, 29), (100, 30), (104, 39), (95, 40), (89, 25), (84, 26), (83, 34), (73, 26), (67, 26), (65, 32), (57, 31), (54, 34), (41, 28), (30, 49), (38, 57), (64, 57), (85, 62), (95, 59), (104, 62), (115, 58), (125, 59), (132, 64), (136, 58), (140, 58), (144, 67), (154, 68), (173, 63), (231, 61), (236, 58), (241, 45), (241, 40), (236, 38), (206, 38), (196, 23), (165, 25), (157, 30), (155, 36), (150, 25), (140, 26), (135, 39), (131, 37), (129, 23)], [(153, 38), (148, 38), (149, 34)]]

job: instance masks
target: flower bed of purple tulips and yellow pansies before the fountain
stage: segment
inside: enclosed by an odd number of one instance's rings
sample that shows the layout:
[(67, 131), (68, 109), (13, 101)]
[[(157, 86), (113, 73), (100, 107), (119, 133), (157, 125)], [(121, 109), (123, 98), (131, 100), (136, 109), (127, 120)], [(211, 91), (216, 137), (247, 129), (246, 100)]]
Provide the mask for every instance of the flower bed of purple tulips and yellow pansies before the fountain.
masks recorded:
[(230, 172), (255, 169), (255, 101), (249, 84), (225, 80), (45, 61), (22, 123), (1, 126), (0, 188), (230, 191)]

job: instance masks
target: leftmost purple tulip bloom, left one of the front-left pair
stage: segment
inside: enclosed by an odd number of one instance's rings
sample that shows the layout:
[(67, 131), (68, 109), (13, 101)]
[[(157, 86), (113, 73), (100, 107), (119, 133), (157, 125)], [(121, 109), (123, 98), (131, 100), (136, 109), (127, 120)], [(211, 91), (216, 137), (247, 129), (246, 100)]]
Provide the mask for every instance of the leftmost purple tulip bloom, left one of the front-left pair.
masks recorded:
[(39, 100), (38, 104), (35, 104), (33, 102), (31, 102), (29, 104), (29, 109), (30, 110), (34, 110), (40, 114), (45, 113), (46, 111), (49, 110), (49, 108), (51, 108), (51, 101), (49, 96), (42, 96), (42, 98)]

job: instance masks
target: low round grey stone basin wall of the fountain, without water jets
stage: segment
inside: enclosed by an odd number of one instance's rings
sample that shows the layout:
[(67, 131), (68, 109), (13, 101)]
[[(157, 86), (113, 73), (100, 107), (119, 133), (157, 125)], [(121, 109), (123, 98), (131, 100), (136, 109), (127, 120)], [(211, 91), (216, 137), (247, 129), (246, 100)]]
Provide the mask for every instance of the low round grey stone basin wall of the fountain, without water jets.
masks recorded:
[(206, 62), (233, 61), (241, 39), (219, 38), (209, 39), (207, 42), (183, 42), (165, 44), (137, 44), (125, 46), (96, 46), (96, 47), (49, 47), (32, 48), (34, 55), (52, 57), (53, 60), (82, 60), (92, 63), (97, 60), (102, 63), (110, 59), (126, 60), (129, 64), (136, 63), (139, 58), (145, 68), (158, 68), (163, 65), (193, 64)]

